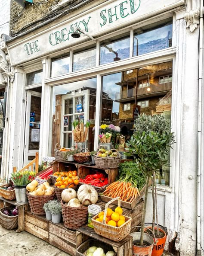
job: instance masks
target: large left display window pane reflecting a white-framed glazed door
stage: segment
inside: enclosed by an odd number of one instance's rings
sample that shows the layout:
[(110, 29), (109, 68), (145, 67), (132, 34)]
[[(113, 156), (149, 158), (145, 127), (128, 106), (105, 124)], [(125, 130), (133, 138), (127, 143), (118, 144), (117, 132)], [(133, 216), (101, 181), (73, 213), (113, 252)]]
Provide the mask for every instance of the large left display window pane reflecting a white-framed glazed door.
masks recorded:
[(93, 127), (96, 115), (96, 78), (53, 87), (52, 154), (55, 144), (70, 148), (74, 145), (72, 122), (76, 119), (86, 124), (90, 120), (85, 147), (93, 150)]

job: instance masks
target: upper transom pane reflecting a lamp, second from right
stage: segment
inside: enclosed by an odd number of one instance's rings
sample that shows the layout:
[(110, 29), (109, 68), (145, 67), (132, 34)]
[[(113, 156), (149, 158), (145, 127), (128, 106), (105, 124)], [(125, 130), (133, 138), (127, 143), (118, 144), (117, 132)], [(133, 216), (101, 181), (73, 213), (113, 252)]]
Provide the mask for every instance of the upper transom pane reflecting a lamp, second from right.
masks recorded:
[(100, 65), (130, 58), (130, 35), (101, 43)]

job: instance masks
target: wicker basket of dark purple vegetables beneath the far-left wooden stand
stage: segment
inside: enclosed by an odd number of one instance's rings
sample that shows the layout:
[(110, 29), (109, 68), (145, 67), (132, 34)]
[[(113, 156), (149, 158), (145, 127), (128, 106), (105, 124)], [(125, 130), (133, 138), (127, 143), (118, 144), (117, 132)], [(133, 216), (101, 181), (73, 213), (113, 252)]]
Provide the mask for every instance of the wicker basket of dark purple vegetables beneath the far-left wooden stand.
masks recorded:
[(18, 226), (18, 207), (6, 206), (0, 209), (0, 224), (6, 229), (14, 229)]

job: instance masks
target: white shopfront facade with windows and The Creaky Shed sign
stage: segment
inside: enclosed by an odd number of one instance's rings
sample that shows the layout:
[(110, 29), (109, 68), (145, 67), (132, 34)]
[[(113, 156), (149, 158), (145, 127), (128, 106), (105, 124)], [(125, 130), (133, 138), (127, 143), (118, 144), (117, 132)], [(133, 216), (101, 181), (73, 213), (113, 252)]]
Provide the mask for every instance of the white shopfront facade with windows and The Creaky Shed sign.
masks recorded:
[[(92, 1), (34, 32), (2, 38), (15, 78), (7, 83), (1, 177), (8, 177), (13, 166), (21, 169), (35, 152), (42, 158), (53, 155), (56, 143), (71, 147), (74, 118), (90, 119), (90, 150), (98, 147), (103, 124), (131, 136), (136, 103), (141, 113), (170, 118), (176, 135), (168, 182), (157, 188), (159, 222), (169, 233), (165, 249), (185, 256), (201, 251), (200, 3), (188, 2), (186, 7), (182, 0)], [(76, 28), (82, 31), (79, 38), (71, 36)], [(199, 165), (202, 169), (202, 161)], [(147, 215), (151, 222), (151, 211)]]

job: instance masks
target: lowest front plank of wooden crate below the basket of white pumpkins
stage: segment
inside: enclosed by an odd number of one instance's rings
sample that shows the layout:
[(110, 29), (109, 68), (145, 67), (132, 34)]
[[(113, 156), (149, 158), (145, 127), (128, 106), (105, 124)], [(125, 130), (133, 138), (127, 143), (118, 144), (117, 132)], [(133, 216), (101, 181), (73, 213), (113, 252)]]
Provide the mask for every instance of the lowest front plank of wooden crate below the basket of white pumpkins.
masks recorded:
[(59, 238), (56, 235), (53, 235), (52, 233), (49, 233), (49, 243), (56, 246), (60, 250), (63, 250), (64, 252), (71, 254), (72, 256), (76, 256), (76, 245), (68, 243), (64, 239)]

